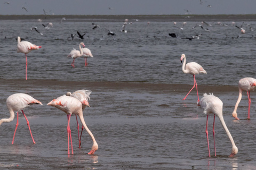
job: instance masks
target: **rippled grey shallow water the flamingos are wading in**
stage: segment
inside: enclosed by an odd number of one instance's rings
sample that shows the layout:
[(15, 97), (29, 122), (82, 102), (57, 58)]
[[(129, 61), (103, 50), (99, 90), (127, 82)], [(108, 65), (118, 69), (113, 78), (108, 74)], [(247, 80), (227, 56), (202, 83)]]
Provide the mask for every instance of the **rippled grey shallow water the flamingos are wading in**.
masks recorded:
[[(46, 21), (45, 23), (50, 22)], [(36, 144), (30, 138), (25, 118), (19, 114), (19, 126), (14, 145), (11, 145), (16, 118), (0, 126), (0, 167), (19, 169), (255, 169), (253, 134), (255, 107), (252, 92), (251, 120), (247, 117), (247, 96), (244, 93), (238, 107), (236, 121), (231, 117), (238, 96), (237, 82), (255, 77), (252, 68), (254, 38), (236, 38), (239, 30), (212, 23), (211, 32), (191, 29), (198, 22), (190, 21), (183, 31), (170, 22), (134, 22), (127, 25), (127, 33), (119, 32), (123, 21), (97, 21), (99, 30), (92, 30), (91, 22), (67, 20), (59, 24), (51, 20), (53, 28), (40, 36), (31, 26), (41, 30), (34, 20), (1, 21), (0, 41), (0, 108), (1, 118), (8, 117), (6, 98), (11, 94), (27, 93), (43, 103), (25, 109)], [(242, 24), (241, 21), (236, 21)], [(240, 23), (241, 22), (241, 23)], [(244, 24), (255, 26), (255, 22)], [(181, 23), (179, 23), (181, 24)], [(112, 29), (117, 36), (108, 37)], [(84, 67), (77, 58), (75, 68), (67, 58), (78, 47), (78, 38), (68, 41), (70, 33), (85, 31), (83, 40), (93, 58)], [(199, 40), (173, 39), (203, 33)], [(250, 32), (250, 31), (248, 31)], [(250, 32), (252, 35), (253, 31)], [(28, 54), (28, 80), (25, 80), (25, 56), (16, 52), (17, 36), (42, 48)], [(228, 38), (226, 37), (228, 35)], [(102, 37), (103, 36), (103, 37)], [(155, 36), (155, 37), (154, 37)], [(234, 37), (234, 38), (232, 38)], [(211, 133), (213, 116), (209, 118), (209, 140), (212, 157), (207, 155), (205, 137), (206, 115), (196, 111), (196, 92), (193, 77), (182, 73), (180, 56), (201, 64), (207, 74), (196, 75), (199, 96), (213, 92), (223, 101), (223, 116), (233, 135), (238, 154), (228, 157), (231, 143), (217, 118), (215, 121), (214, 157)], [(19, 60), (17, 60), (19, 59)], [(85, 122), (94, 134), (99, 149), (86, 155), (92, 140), (84, 132), (82, 148), (78, 148), (75, 116), (70, 122), (74, 155), (67, 155), (67, 116), (57, 108), (46, 106), (53, 98), (67, 91), (92, 90), (91, 107), (84, 111)]]

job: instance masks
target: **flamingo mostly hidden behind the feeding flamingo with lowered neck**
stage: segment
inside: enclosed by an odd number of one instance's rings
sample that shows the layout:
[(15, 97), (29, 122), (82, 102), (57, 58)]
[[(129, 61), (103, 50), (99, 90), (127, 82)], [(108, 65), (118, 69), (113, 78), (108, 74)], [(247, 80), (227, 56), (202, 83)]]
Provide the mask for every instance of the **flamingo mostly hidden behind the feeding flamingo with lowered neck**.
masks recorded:
[[(85, 109), (86, 106), (89, 106), (88, 100), (90, 100), (89, 95), (91, 94), (92, 91), (90, 90), (77, 90), (75, 92), (73, 92), (73, 94), (71, 94), (71, 92), (67, 92), (67, 96), (71, 96), (71, 97), (75, 97), (76, 99), (78, 99), (81, 103), (82, 103), (82, 108), (83, 111)], [(90, 106), (89, 106), (90, 107)], [(81, 148), (81, 137), (82, 137), (82, 132), (84, 129), (84, 126), (82, 126), (82, 131), (81, 131), (81, 135), (79, 137), (79, 124), (77, 121), (77, 116), (76, 116), (76, 122), (77, 122), (77, 131), (78, 131), (78, 141), (79, 141), (79, 148)]]

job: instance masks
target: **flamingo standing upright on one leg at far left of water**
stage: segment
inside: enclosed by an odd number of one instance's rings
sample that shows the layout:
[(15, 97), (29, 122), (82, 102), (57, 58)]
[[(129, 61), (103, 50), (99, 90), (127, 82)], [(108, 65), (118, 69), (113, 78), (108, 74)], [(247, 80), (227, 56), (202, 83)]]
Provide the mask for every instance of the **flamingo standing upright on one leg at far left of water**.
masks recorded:
[(28, 67), (27, 54), (31, 52), (31, 50), (39, 49), (42, 47), (31, 44), (28, 41), (20, 41), (20, 37), (18, 37), (17, 41), (18, 41), (17, 52), (25, 53), (25, 56), (26, 56), (26, 80), (27, 80), (27, 67)]

